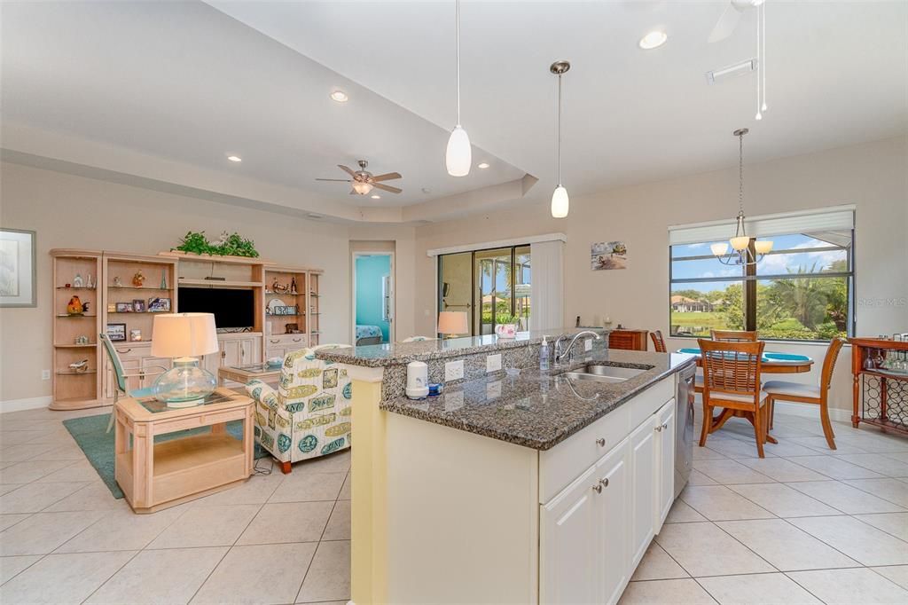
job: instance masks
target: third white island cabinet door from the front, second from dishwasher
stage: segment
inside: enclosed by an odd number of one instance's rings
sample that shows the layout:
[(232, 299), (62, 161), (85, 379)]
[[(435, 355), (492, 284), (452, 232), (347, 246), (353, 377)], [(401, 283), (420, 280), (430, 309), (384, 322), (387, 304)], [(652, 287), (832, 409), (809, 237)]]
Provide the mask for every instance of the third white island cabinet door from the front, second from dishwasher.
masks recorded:
[(656, 535), (656, 416), (630, 435), (631, 464), (631, 566), (643, 559)]

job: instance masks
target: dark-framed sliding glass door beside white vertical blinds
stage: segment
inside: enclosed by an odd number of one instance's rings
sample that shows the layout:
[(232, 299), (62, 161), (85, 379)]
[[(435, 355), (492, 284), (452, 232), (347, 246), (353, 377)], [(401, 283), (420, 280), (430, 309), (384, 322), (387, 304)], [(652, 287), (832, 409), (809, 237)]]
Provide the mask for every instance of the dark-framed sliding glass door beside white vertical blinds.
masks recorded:
[(493, 334), (518, 317), (529, 329), (532, 272), (529, 246), (439, 256), (439, 311), (469, 315), (470, 335)]

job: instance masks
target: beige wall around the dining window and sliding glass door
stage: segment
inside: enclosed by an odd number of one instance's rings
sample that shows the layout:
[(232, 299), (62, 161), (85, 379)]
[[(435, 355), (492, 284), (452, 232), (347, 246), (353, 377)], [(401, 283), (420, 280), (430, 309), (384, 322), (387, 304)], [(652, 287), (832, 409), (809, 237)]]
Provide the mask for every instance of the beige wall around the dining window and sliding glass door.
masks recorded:
[[(750, 214), (856, 205), (857, 331), (863, 335), (908, 330), (906, 146), (908, 139), (899, 137), (746, 167), (745, 210)], [(546, 200), (519, 210), (420, 226), (416, 331), (432, 329), (435, 309), (435, 268), (427, 249), (560, 232), (568, 235), (565, 322), (573, 325), (577, 315), (585, 322), (609, 316), (626, 326), (667, 333), (667, 228), (732, 218), (736, 192), (737, 170), (730, 168), (577, 196), (562, 220), (549, 216)], [(627, 243), (627, 270), (591, 271), (590, 243), (614, 240)], [(814, 358), (824, 352), (817, 345), (791, 350)], [(849, 367), (846, 351), (835, 375), (835, 405), (842, 408), (851, 406)], [(815, 377), (812, 372), (800, 378)]]

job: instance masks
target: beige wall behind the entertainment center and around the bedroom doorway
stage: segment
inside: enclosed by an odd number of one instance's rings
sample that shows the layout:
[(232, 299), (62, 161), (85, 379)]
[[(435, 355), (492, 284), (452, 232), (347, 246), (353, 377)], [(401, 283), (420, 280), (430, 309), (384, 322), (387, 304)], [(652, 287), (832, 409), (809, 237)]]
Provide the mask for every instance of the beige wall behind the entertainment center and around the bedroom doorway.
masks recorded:
[[(0, 310), (0, 402), (50, 395), (51, 248), (158, 253), (187, 231), (216, 236), (223, 230), (252, 238), (262, 258), (324, 269), (321, 342), (350, 342), (349, 241), (367, 239), (362, 228), (291, 218), (223, 203), (160, 193), (123, 184), (0, 164), (0, 224), (37, 232), (38, 306)], [(372, 229), (370, 238), (397, 240), (399, 271), (413, 274), (413, 229)], [(399, 310), (399, 334), (412, 333), (413, 294)]]

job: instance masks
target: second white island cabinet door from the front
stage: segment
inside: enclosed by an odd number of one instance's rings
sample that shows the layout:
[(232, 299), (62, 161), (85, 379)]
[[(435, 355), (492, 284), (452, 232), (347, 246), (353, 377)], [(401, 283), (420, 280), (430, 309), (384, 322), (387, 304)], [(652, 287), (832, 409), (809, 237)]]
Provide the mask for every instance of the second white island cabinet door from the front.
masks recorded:
[(601, 533), (601, 555), (597, 575), (601, 578), (598, 602), (616, 603), (627, 586), (630, 572), (630, 528), (627, 504), (630, 496), (630, 442), (621, 441), (596, 463), (595, 478), (602, 486), (597, 501), (597, 525)]

